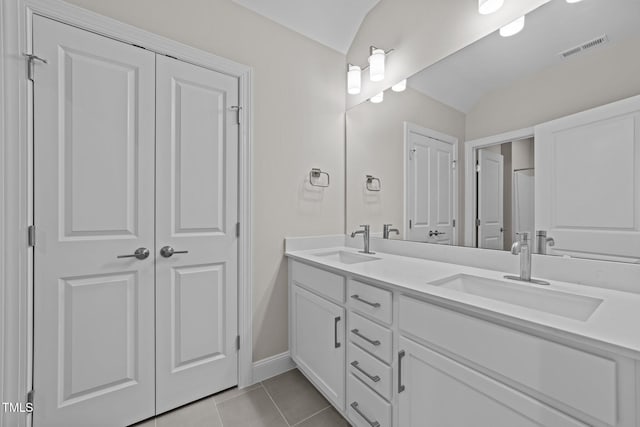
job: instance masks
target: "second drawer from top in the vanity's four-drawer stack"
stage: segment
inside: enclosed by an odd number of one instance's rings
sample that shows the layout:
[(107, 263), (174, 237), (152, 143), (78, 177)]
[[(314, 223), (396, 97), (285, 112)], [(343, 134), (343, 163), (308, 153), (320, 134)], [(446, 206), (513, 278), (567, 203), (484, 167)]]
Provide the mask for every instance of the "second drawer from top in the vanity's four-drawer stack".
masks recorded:
[(349, 314), (349, 339), (377, 358), (391, 363), (392, 332), (359, 314)]

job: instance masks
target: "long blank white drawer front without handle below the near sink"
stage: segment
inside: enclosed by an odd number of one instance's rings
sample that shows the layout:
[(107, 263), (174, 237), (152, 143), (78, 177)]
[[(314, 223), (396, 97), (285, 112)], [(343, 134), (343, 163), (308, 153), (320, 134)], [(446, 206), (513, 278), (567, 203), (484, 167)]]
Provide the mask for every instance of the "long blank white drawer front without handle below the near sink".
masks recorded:
[(406, 296), (399, 307), (402, 332), (616, 425), (615, 360)]

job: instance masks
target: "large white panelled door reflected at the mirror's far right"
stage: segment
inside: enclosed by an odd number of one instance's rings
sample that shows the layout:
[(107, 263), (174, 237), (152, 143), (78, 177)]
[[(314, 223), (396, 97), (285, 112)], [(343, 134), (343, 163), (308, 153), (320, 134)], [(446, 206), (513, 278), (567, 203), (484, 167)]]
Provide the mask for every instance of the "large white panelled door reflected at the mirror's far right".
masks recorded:
[(640, 260), (640, 97), (536, 130), (536, 230), (549, 253)]

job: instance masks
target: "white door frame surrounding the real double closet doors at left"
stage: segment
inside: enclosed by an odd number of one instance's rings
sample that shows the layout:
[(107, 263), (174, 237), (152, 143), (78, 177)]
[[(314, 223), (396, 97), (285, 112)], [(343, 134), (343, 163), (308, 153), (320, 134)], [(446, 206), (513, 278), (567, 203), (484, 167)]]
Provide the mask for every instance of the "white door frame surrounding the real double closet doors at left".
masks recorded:
[[(0, 400), (24, 402), (31, 384), (33, 251), (27, 244), (27, 228), (33, 218), (33, 117), (28, 102), (32, 84), (27, 79), (27, 62), (23, 54), (32, 52), (34, 14), (238, 78), (242, 106), (238, 186), (241, 229), (238, 242), (238, 385), (251, 385), (252, 69), (61, 0), (0, 0), (0, 129), (3, 130), (0, 136), (0, 271), (3, 273), (0, 282), (3, 314), (0, 316)], [(28, 417), (0, 411), (0, 426), (26, 426), (28, 422)]]

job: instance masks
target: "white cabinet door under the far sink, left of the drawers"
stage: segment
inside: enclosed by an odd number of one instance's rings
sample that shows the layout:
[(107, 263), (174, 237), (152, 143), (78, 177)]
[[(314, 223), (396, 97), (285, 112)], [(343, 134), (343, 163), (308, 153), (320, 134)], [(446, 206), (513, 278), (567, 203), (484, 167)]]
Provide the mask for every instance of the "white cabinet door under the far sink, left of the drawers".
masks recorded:
[(315, 386), (344, 410), (344, 309), (295, 285), (291, 297), (291, 356)]

